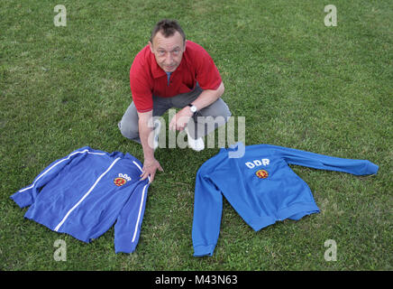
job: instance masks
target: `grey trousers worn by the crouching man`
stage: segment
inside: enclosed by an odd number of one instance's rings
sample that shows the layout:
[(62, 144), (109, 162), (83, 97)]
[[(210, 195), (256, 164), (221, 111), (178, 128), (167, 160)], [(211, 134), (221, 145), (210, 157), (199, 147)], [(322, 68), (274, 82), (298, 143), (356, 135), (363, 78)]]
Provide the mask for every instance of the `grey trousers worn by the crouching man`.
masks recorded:
[[(183, 108), (193, 102), (203, 89), (197, 86), (196, 89), (179, 94), (173, 98), (160, 98), (153, 96), (153, 117), (160, 117), (172, 107)], [(187, 124), (188, 132), (194, 139), (205, 136), (214, 131), (217, 127), (223, 126), (228, 118), (231, 117), (231, 111), (222, 98), (218, 98), (208, 107), (197, 111), (194, 117), (191, 117)], [(135, 105), (132, 104), (125, 111), (122, 120), (118, 123), (120, 132), (128, 139), (141, 144), (139, 137), (138, 113)], [(170, 119), (169, 119), (170, 121)], [(209, 124), (210, 122), (210, 124)]]

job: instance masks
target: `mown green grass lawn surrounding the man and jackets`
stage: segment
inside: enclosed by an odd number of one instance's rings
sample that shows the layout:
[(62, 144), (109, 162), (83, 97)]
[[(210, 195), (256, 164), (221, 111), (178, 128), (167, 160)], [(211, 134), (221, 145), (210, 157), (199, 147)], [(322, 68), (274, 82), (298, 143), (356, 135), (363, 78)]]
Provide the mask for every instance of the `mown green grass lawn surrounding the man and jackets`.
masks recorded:
[[(53, 8), (67, 7), (67, 27)], [(324, 1), (10, 1), (0, 4), (0, 270), (392, 270), (393, 5)], [(161, 18), (176, 18), (224, 79), (224, 100), (246, 117), (246, 144), (277, 144), (368, 159), (376, 176), (293, 166), (321, 213), (259, 232), (228, 202), (212, 257), (192, 256), (196, 172), (218, 148), (159, 149), (131, 255), (114, 228), (91, 244), (23, 219), (9, 196), (49, 163), (89, 145), (129, 152), (117, 122), (131, 103), (129, 69)], [(56, 262), (53, 243), (67, 243)], [(324, 242), (337, 261), (324, 260)]]

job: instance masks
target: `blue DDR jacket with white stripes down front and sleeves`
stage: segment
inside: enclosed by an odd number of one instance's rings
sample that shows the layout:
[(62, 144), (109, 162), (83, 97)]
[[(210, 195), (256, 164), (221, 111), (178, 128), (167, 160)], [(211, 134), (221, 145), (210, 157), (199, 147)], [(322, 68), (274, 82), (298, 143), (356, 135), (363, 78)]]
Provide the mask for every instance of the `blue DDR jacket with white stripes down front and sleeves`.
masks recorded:
[(11, 199), (24, 217), (90, 242), (114, 225), (115, 252), (138, 244), (149, 188), (142, 163), (131, 154), (82, 147), (45, 168)]

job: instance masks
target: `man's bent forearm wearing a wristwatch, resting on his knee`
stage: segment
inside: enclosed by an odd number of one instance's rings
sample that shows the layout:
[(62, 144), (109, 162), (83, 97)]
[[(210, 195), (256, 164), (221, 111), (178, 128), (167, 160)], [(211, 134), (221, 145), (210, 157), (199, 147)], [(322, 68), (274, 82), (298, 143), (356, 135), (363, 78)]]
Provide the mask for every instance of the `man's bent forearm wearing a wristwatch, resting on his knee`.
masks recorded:
[[(191, 104), (196, 106), (198, 110), (210, 106), (218, 98), (224, 94), (224, 83), (221, 82), (218, 89), (206, 89), (194, 100)], [(188, 123), (189, 118), (192, 117), (192, 112), (189, 107), (184, 107), (170, 120), (169, 129), (182, 131)]]

